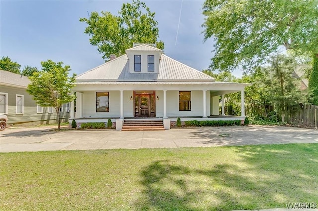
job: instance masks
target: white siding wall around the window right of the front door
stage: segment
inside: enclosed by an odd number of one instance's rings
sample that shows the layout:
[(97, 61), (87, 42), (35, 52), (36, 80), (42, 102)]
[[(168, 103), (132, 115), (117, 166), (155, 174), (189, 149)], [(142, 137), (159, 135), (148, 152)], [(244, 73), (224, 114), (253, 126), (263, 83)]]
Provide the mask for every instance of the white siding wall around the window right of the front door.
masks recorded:
[[(191, 90), (180, 90), (191, 91)], [(163, 97), (163, 96), (162, 96)], [(207, 93), (207, 115), (210, 113), (209, 94)], [(167, 116), (203, 116), (203, 91), (191, 91), (191, 111), (179, 111), (179, 91), (167, 91)]]

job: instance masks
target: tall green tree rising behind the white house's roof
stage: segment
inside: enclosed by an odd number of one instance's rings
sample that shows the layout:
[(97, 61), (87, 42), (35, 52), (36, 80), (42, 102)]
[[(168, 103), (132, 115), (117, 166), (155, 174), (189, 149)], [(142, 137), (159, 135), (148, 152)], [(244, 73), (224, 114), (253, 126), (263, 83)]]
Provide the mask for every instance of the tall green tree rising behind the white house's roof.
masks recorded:
[(110, 12), (92, 12), (90, 17), (80, 18), (88, 26), (85, 33), (90, 35), (90, 44), (97, 46), (98, 52), (107, 61), (111, 54), (120, 56), (133, 43), (156, 43), (163, 49), (164, 43), (158, 41), (158, 23), (155, 13), (151, 12), (144, 2), (133, 0), (132, 4), (124, 3), (118, 16)]

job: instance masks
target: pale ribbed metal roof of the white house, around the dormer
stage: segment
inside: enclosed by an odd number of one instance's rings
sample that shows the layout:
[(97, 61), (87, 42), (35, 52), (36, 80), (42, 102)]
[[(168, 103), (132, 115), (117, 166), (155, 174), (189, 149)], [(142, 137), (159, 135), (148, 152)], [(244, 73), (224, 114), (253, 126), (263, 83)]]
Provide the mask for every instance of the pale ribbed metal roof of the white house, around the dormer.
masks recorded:
[[(134, 48), (153, 48), (142, 45)], [(134, 49), (131, 48), (131, 49)], [(214, 78), (182, 64), (164, 54), (159, 60), (159, 73), (130, 73), (129, 60), (122, 55), (76, 77), (79, 81), (214, 81)]]

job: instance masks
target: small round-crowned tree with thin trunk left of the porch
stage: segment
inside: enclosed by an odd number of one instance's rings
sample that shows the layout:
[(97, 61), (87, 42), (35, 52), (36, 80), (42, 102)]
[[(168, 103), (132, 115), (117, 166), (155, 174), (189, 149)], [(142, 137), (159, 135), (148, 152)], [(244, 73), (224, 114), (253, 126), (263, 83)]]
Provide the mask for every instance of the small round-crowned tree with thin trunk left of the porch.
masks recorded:
[(75, 74), (69, 77), (70, 66), (62, 66), (63, 62), (55, 63), (51, 60), (42, 61), (42, 70), (34, 72), (29, 77), (30, 84), (27, 92), (43, 107), (53, 107), (57, 113), (58, 129), (60, 130), (59, 108), (64, 103), (74, 100), (71, 92), (74, 87)]

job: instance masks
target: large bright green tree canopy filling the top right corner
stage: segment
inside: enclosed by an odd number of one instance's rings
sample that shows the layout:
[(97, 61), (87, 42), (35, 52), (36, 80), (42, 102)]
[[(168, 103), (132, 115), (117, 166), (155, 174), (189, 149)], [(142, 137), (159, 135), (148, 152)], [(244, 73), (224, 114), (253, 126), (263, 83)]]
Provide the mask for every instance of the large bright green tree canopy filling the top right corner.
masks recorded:
[(280, 46), (318, 59), (317, 0), (206, 0), (203, 14), (204, 39), (216, 41), (213, 69), (257, 66)]

